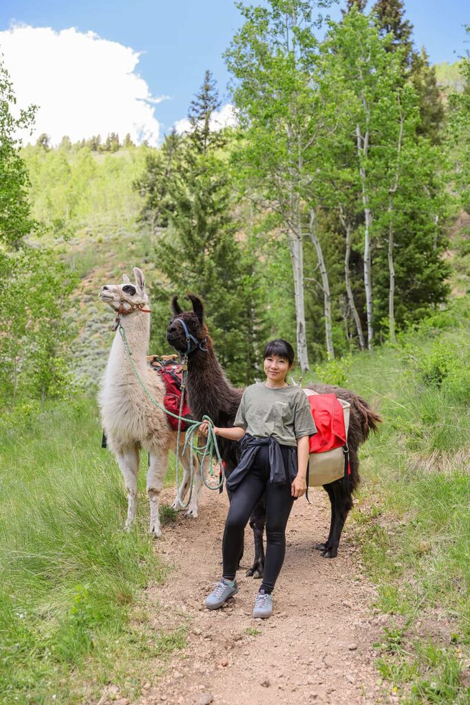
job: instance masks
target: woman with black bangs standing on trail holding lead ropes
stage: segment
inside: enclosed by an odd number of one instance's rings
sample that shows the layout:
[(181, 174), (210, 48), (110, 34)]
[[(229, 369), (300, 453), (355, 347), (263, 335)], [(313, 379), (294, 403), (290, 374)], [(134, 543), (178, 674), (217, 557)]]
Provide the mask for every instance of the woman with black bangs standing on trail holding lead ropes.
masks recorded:
[[(235, 580), (245, 526), (254, 506), (266, 494), (266, 559), (253, 616), (271, 617), (272, 592), (285, 555), (285, 527), (297, 497), (307, 491), (309, 436), (314, 419), (301, 388), (288, 385), (294, 364), (292, 345), (282, 339), (264, 350), (266, 382), (245, 389), (233, 428), (214, 427), (216, 436), (238, 441), (240, 461), (227, 480), (230, 508), (223, 534), (223, 575), (205, 605), (217, 609), (237, 594)], [(207, 435), (207, 424), (201, 427)]]

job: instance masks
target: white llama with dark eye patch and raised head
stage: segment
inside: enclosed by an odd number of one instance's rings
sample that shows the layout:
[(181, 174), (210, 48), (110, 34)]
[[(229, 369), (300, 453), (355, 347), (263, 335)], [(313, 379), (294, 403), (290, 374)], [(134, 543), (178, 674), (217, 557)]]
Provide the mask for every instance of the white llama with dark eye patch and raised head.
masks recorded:
[[(121, 314), (120, 324), (132, 350), (132, 360), (151, 396), (163, 404), (165, 386), (161, 376), (149, 367), (146, 359), (149, 347), (150, 313), (144, 275), (138, 267), (134, 268), (134, 274), (135, 286), (124, 274), (123, 284), (106, 284), (101, 288), (99, 298), (109, 304), (116, 314)], [(168, 427), (165, 412), (152, 404), (142, 389), (125, 353), (119, 331), (116, 331), (114, 336), (98, 400), (108, 447), (116, 455), (128, 493), (128, 518), (125, 527), (130, 527), (137, 514), (139, 456), (140, 449), (145, 448), (149, 451), (149, 471), (147, 472), (147, 495), (150, 503), (149, 532), (154, 537), (161, 537), (159, 497), (168, 466), (168, 452), (176, 449), (176, 432)], [(184, 438), (185, 434), (182, 434), (183, 441)], [(180, 486), (180, 498), (183, 500), (190, 484), (189, 454), (182, 458), (182, 464), (184, 474)], [(194, 487), (187, 516), (197, 518), (200, 487), (199, 472), (194, 472)], [(180, 508), (178, 495), (173, 502), (173, 508)]]

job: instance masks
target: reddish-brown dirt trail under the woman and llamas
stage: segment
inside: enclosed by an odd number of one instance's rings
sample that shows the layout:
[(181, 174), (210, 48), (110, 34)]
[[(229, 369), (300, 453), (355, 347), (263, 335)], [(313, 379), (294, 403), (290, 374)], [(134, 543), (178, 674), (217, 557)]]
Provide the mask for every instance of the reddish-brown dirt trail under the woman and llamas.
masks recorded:
[[(164, 501), (173, 497), (166, 491)], [(140, 705), (277, 705), (303, 703), (373, 704), (394, 702), (383, 691), (373, 666), (373, 642), (381, 617), (371, 614), (373, 587), (361, 574), (351, 525), (335, 560), (321, 558), (314, 542), (328, 534), (328, 498), (311, 492), (295, 502), (287, 525), (287, 551), (274, 594), (274, 614), (254, 620), (259, 580), (238, 573), (240, 591), (225, 608), (202, 607), (221, 573), (221, 535), (227, 512), (225, 492), (204, 488), (199, 519), (178, 521), (159, 543), (175, 570), (163, 587), (152, 588), (160, 609), (156, 627), (168, 626), (175, 613), (188, 621), (188, 646), (174, 656), (158, 685), (147, 689)], [(243, 565), (253, 556), (252, 532), (245, 532)], [(253, 632), (257, 630), (257, 632)], [(252, 632), (250, 634), (249, 632)]]

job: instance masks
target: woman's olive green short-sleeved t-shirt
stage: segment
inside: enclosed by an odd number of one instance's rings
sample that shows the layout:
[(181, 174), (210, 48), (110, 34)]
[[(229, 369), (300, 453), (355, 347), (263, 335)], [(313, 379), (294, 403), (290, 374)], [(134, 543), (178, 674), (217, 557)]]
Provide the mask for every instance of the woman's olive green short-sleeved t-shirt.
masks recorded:
[(264, 382), (243, 392), (234, 426), (255, 438), (273, 438), (283, 446), (297, 447), (297, 439), (316, 434), (307, 395), (300, 387), (271, 388)]

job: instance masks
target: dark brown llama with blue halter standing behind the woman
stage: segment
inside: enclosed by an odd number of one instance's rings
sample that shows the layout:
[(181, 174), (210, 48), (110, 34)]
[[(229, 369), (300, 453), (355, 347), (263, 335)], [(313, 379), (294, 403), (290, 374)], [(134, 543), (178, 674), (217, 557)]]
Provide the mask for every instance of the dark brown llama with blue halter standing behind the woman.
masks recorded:
[[(187, 298), (192, 302), (192, 311), (183, 311), (178, 305), (178, 298), (176, 296), (172, 298), (173, 318), (166, 331), (166, 340), (178, 353), (187, 354), (187, 398), (192, 415), (195, 419), (202, 419), (207, 415), (219, 427), (233, 426), (243, 389), (230, 385), (217, 360), (214, 345), (204, 323), (202, 300), (192, 294)], [(366, 441), (371, 431), (377, 430), (381, 417), (371, 410), (364, 399), (347, 389), (329, 384), (309, 384), (308, 388), (321, 394), (334, 393), (351, 405), (350, 428), (347, 434), (351, 473), (347, 491), (342, 479), (323, 485), (323, 489), (330, 498), (331, 522), (328, 539), (324, 544), (318, 544), (318, 548), (324, 558), (335, 558), (338, 555), (342, 527), (347, 513), (352, 508), (352, 493), (360, 482), (359, 446)], [(237, 465), (236, 443), (222, 437), (217, 441), (221, 457), (225, 461), (225, 474), (228, 476)], [(264, 498), (261, 498), (249, 520), (249, 525), (254, 532), (255, 556), (252, 567), (247, 570), (247, 575), (253, 577), (263, 575), (265, 522), (266, 505)]]

